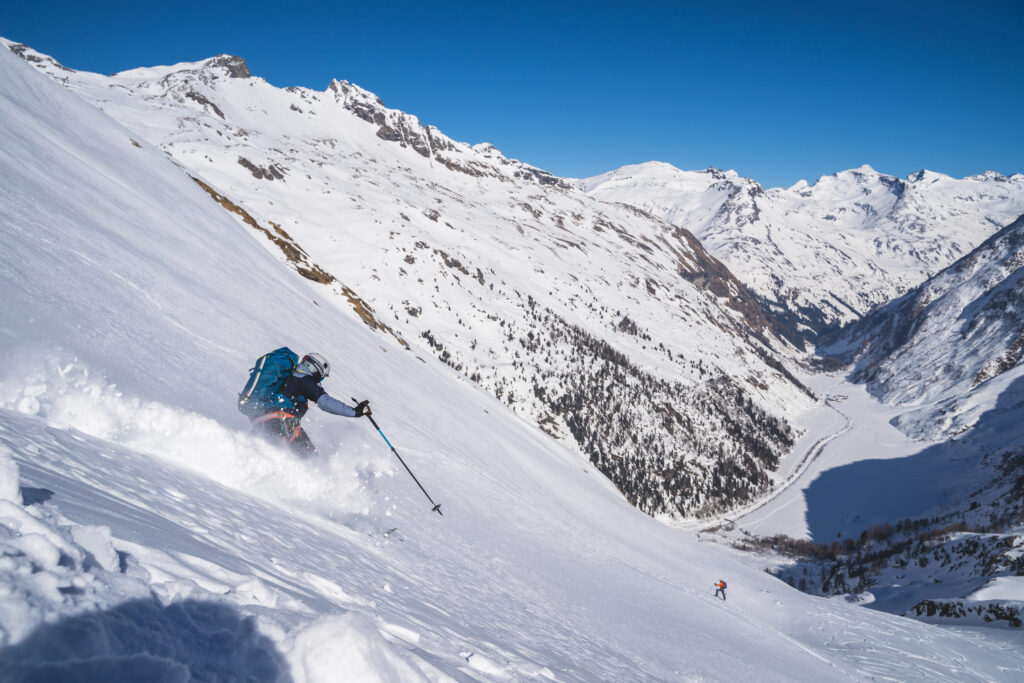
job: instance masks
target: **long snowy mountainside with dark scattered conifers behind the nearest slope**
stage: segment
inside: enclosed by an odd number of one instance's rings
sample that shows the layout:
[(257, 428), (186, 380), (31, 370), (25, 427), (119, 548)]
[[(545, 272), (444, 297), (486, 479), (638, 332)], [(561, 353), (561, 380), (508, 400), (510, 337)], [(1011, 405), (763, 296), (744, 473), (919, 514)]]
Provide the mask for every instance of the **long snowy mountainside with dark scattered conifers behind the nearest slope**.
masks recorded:
[(810, 397), (774, 324), (686, 230), (343, 81), (274, 88), (228, 56), (106, 77), (11, 47), (276, 241), (333, 290), (323, 303), (439, 357), (641, 509), (708, 515), (770, 484)]

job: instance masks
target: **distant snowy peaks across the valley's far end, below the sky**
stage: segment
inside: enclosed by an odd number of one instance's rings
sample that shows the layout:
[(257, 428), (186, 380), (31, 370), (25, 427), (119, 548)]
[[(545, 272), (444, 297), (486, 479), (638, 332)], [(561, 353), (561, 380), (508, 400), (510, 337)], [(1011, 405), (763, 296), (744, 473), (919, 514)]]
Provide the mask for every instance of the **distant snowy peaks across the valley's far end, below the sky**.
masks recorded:
[(626, 166), (581, 180), (692, 231), (809, 339), (905, 293), (1024, 213), (1024, 175), (869, 166), (763, 189), (734, 171)]

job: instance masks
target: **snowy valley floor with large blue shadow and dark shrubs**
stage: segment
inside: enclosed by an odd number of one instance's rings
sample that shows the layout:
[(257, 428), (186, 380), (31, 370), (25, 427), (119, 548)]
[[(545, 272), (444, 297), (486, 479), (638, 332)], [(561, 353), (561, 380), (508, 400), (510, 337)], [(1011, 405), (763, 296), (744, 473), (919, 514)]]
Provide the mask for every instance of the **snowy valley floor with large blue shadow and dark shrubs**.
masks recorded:
[[(776, 487), (733, 515), (684, 528), (699, 529), (706, 545), (809, 593), (894, 614), (915, 613), (968, 638), (1021, 651), (1024, 632), (1008, 627), (1019, 625), (1024, 613), (1024, 579), (1017, 575), (1022, 529), (1012, 520), (986, 524), (989, 508), (1006, 509), (1000, 496), (1016, 476), (1002, 484), (996, 479), (992, 487), (996, 470), (980, 463), (999, 450), (986, 447), (984, 435), (913, 440), (891, 424), (905, 408), (881, 403), (841, 375), (805, 382), (822, 401), (799, 417), (803, 434), (782, 462)], [(1018, 391), (1013, 378), (1002, 385), (989, 393), (1006, 392), (1002, 402), (1011, 410), (991, 410), (999, 401), (990, 397), (987, 422), (979, 423), (989, 439), (999, 434), (991, 442), (1000, 444), (1013, 441), (1006, 425), (1015, 415)], [(975, 501), (970, 510), (977, 511), (965, 516), (968, 496)], [(911, 531), (909, 520), (925, 523)], [(880, 529), (878, 540), (868, 537), (864, 543), (862, 535), (872, 527)], [(942, 532), (943, 527), (950, 530)], [(777, 544), (774, 537), (793, 543)], [(801, 542), (816, 544), (821, 555)], [(852, 549), (829, 559), (825, 549), (838, 548), (837, 542)]]

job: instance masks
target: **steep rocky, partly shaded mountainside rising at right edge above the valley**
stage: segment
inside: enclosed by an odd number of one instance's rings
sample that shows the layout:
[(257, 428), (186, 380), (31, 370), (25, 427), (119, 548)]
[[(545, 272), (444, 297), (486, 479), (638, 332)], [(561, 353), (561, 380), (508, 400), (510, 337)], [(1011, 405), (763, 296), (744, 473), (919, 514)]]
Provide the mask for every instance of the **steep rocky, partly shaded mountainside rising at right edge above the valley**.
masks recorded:
[(1022, 300), (1024, 216), (820, 352), (852, 356), (854, 380), (906, 407), (905, 431), (963, 433), (1024, 373)]

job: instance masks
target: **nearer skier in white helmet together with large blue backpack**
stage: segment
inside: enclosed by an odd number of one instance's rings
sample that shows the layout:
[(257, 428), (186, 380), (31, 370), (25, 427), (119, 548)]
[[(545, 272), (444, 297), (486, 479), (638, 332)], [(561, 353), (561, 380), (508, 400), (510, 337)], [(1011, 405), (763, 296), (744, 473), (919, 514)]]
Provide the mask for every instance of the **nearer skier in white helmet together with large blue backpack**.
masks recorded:
[[(307, 353), (297, 365), (295, 357), (287, 348), (262, 356), (239, 396), (239, 407), (252, 420), (254, 431), (269, 441), (287, 443), (293, 453), (309, 456), (316, 453), (316, 446), (309, 440), (301, 421), (309, 410), (310, 400), (322, 411), (345, 418), (371, 415), (370, 401), (359, 401), (352, 408), (328, 394), (319, 383), (331, 374), (331, 366), (319, 353)], [(278, 384), (274, 373), (280, 374), (282, 367), (285, 372), (292, 368), (294, 371)], [(260, 387), (267, 384), (275, 387), (272, 393), (254, 399), (253, 394), (258, 394)]]

